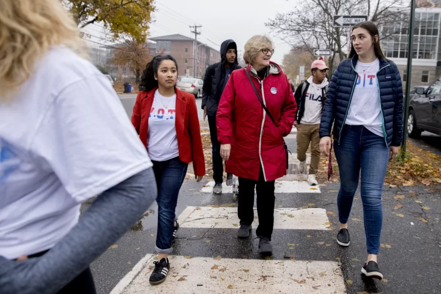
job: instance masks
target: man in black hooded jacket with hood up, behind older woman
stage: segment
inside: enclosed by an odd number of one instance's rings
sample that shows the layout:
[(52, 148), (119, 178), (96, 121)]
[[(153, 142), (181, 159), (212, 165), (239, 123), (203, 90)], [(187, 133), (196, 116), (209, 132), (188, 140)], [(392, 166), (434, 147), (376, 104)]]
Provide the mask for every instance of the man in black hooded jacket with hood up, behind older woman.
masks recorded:
[[(214, 194), (222, 193), (223, 162), (221, 158), (221, 144), (218, 141), (216, 128), (216, 113), (218, 112), (219, 100), (230, 74), (241, 66), (237, 61), (237, 45), (233, 40), (226, 40), (221, 44), (221, 62), (210, 65), (205, 72), (204, 85), (202, 88), (202, 109), (204, 120), (208, 116), (210, 127), (211, 146), (213, 151), (213, 179), (215, 186)], [(233, 175), (227, 174), (226, 184), (233, 184)]]

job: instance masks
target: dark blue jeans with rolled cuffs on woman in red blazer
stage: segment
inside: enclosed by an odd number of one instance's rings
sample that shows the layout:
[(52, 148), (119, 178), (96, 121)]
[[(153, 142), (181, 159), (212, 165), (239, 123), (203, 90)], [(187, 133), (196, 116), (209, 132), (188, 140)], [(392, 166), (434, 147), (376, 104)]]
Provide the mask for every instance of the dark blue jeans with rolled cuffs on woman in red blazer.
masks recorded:
[(188, 164), (179, 157), (167, 161), (153, 161), (156, 185), (158, 187), (158, 232), (156, 234), (156, 252), (172, 253), (172, 238), (177, 220), (175, 209), (182, 183), (187, 173)]

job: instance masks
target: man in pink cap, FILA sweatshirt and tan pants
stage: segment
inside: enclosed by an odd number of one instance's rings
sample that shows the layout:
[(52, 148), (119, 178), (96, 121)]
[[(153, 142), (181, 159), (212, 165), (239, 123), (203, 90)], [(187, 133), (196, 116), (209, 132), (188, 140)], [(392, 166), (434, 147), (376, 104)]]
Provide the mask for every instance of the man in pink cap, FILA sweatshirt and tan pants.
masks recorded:
[(298, 85), (294, 93), (298, 105), (294, 121), (297, 127), (298, 171), (305, 171), (306, 151), (311, 143), (311, 165), (308, 174), (308, 183), (311, 186), (318, 184), (316, 173), (319, 171), (320, 161), (319, 126), (329, 84), (326, 78), (327, 70), (329, 68), (321, 57), (315, 60), (311, 65), (312, 76)]

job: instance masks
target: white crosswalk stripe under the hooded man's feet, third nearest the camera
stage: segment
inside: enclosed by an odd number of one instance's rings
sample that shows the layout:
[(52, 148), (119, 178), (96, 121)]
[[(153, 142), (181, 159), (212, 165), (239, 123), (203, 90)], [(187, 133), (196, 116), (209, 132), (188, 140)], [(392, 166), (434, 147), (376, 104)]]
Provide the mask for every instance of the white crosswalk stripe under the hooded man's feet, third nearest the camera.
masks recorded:
[[(212, 193), (214, 181), (205, 184), (200, 192)], [(222, 183), (222, 193), (233, 193), (233, 186), (227, 186), (225, 182)], [(276, 181), (274, 193), (320, 193), (318, 186), (310, 186), (307, 182), (299, 181)]]

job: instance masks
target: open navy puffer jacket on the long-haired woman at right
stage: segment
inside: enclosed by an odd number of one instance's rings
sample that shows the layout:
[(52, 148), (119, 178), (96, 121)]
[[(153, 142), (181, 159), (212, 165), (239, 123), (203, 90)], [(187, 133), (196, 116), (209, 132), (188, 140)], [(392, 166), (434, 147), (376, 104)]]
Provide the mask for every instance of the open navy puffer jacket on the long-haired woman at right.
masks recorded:
[[(358, 73), (355, 72), (358, 55), (343, 60), (331, 78), (326, 102), (321, 115), (319, 135), (331, 136), (334, 122), (334, 140), (340, 142), (340, 135), (346, 120)], [(380, 89), (381, 112), (383, 114), (383, 133), (386, 144), (400, 146), (403, 139), (403, 86), (395, 63), (380, 58), (377, 73)]]

